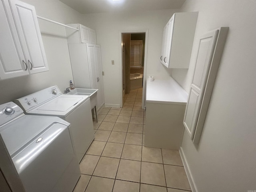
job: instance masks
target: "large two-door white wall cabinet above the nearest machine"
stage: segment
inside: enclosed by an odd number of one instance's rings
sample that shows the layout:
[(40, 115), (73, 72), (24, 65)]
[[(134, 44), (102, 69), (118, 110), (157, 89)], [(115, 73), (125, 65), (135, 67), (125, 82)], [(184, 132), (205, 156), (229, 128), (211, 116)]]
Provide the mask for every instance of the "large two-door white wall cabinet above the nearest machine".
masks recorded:
[(0, 79), (48, 70), (34, 6), (0, 0)]

